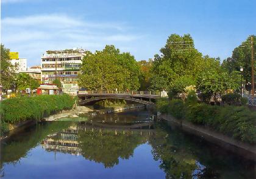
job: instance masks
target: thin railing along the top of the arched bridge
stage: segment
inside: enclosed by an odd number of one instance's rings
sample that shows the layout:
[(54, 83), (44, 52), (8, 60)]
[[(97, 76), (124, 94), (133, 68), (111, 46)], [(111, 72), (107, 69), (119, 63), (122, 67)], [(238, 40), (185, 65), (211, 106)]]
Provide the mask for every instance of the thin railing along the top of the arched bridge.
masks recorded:
[(125, 95), (157, 95), (160, 96), (161, 92), (158, 91), (130, 91), (130, 90), (86, 90), (79, 91), (79, 94), (125, 94)]

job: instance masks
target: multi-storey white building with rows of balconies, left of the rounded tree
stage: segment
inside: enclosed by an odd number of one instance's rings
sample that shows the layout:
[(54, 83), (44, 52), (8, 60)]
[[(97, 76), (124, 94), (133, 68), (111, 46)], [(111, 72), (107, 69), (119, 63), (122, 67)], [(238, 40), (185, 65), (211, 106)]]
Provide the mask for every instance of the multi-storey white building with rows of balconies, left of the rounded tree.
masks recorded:
[(41, 56), (41, 83), (59, 79), (63, 92), (76, 94), (79, 89), (77, 76), (80, 73), (83, 49), (48, 50)]

